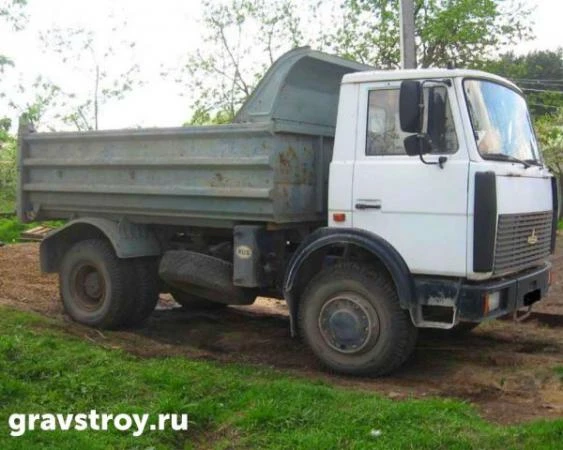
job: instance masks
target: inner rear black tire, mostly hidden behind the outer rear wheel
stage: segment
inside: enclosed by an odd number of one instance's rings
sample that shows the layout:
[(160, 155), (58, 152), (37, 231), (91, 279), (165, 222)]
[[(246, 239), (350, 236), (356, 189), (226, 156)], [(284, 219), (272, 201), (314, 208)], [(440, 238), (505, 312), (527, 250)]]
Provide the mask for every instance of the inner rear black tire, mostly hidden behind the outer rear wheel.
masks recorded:
[(158, 264), (155, 258), (135, 258), (125, 263), (133, 265), (129, 280), (133, 294), (124, 324), (135, 326), (144, 322), (158, 303)]

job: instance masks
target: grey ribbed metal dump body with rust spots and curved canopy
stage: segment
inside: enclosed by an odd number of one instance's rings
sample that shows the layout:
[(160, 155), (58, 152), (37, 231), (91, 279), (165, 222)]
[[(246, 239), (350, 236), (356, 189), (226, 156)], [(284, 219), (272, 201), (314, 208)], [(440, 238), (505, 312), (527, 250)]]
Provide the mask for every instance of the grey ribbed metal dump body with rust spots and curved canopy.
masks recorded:
[(324, 221), (339, 85), (367, 68), (296, 49), (229, 125), (81, 133), (23, 125), (19, 216), (218, 228)]

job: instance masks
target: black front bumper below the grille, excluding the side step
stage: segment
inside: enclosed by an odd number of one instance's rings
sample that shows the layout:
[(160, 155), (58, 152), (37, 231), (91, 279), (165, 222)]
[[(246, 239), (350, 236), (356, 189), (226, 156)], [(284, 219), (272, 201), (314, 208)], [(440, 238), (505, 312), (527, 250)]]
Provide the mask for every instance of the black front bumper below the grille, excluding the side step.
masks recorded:
[[(458, 298), (460, 321), (480, 322), (504, 316), (541, 300), (549, 290), (551, 263), (512, 277), (485, 283), (462, 284)], [(488, 304), (491, 294), (500, 294), (498, 308)]]

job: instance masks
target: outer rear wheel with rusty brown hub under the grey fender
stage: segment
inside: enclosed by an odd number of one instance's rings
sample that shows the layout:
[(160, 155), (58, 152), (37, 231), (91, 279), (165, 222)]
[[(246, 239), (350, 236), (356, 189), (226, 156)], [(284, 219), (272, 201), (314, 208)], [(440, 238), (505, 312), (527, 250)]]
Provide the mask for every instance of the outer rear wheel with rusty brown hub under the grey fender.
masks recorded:
[(59, 288), (66, 313), (77, 322), (117, 328), (129, 312), (131, 267), (120, 260), (109, 242), (78, 242), (64, 255)]

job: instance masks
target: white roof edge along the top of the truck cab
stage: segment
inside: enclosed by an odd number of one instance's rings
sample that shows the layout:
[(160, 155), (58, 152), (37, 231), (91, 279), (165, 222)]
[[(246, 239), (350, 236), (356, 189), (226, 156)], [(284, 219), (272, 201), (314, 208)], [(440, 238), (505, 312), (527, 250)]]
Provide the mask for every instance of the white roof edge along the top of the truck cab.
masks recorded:
[(468, 69), (401, 69), (401, 70), (369, 70), (344, 75), (343, 84), (368, 83), (370, 81), (400, 81), (420, 78), (483, 78), (504, 84), (521, 92), (514, 83), (481, 70)]

